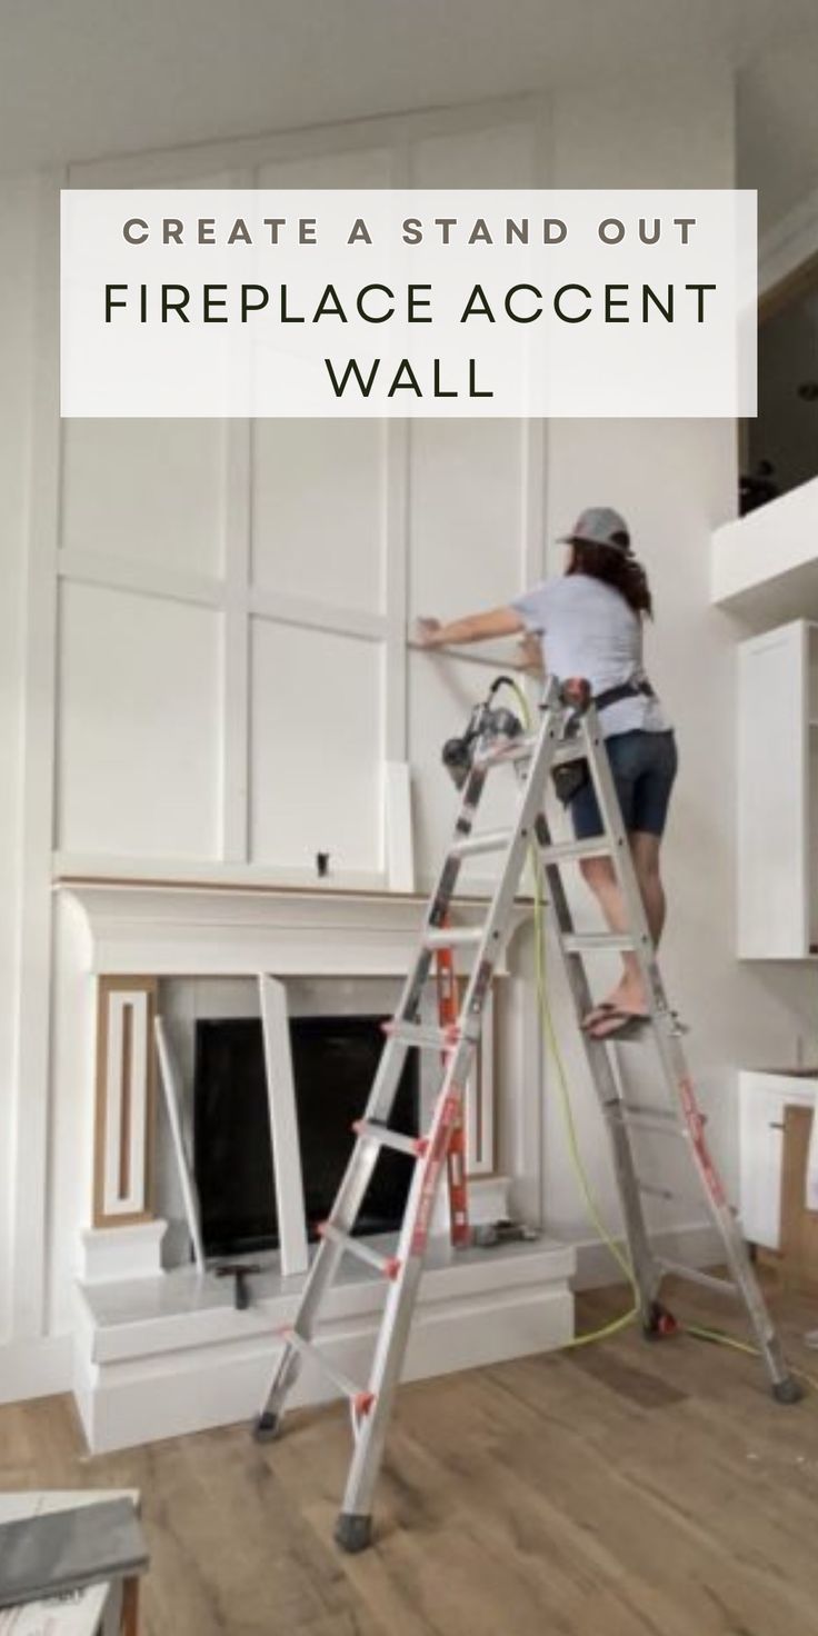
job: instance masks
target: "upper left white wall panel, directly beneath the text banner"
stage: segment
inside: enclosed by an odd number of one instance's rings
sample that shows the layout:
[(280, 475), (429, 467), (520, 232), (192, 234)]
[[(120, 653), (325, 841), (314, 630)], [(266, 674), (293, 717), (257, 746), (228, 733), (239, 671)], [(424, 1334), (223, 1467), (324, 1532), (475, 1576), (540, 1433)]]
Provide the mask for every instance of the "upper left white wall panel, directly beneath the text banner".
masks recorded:
[(62, 545), (219, 574), (219, 420), (65, 420)]

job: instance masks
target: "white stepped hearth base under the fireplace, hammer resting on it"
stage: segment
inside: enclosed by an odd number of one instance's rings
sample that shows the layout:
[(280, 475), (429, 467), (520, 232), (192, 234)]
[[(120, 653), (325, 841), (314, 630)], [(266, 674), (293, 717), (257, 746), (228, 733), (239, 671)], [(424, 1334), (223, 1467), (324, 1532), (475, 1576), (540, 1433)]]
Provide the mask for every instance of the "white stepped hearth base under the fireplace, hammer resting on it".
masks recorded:
[[(489, 1214), (494, 1219), (497, 1206)], [(370, 1243), (394, 1255), (398, 1237), (381, 1234)], [(252, 1420), (281, 1327), (293, 1325), (303, 1289), (303, 1274), (281, 1274), (276, 1252), (260, 1261), (244, 1312), (236, 1310), (226, 1279), (201, 1278), (195, 1266), (82, 1288), (77, 1402), (95, 1453)], [(448, 1230), (440, 1230), (429, 1243), (404, 1378), (564, 1346), (574, 1332), (574, 1268), (576, 1250), (553, 1238), (455, 1250)], [(319, 1348), (350, 1382), (363, 1381), (371, 1366), (389, 1288), (358, 1258), (342, 1258)], [(298, 1404), (327, 1402), (334, 1394), (326, 1368), (304, 1356)]]

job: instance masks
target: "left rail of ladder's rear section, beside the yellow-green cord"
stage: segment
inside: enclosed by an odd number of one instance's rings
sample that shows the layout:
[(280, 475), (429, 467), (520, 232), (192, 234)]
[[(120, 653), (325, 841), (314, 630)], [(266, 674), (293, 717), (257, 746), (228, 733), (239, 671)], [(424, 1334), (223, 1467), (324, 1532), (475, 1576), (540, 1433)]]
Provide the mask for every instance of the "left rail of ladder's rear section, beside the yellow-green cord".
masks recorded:
[[(537, 825), (537, 841), (540, 846), (540, 852), (545, 852), (551, 846), (551, 833), (545, 813), (542, 813)], [(578, 1021), (579, 1037), (582, 1042), (582, 1054), (587, 1063), (587, 1072), (594, 1085), (597, 1101), (602, 1116), (605, 1119), (605, 1129), (609, 1134), (610, 1155), (614, 1160), (614, 1171), (617, 1178), (617, 1189), (622, 1202), (622, 1212), (625, 1217), (625, 1237), (628, 1242), (633, 1278), (636, 1281), (636, 1289), (640, 1296), (640, 1315), (643, 1324), (649, 1324), (653, 1302), (656, 1301), (656, 1292), (661, 1283), (661, 1274), (651, 1250), (648, 1225), (641, 1206), (630, 1130), (627, 1129), (625, 1121), (618, 1116), (622, 1108), (620, 1086), (617, 1085), (614, 1070), (610, 1067), (605, 1045), (602, 1044), (602, 1040), (594, 1039), (587, 1032), (587, 1029), (582, 1027), (582, 1019), (591, 1011), (594, 1000), (591, 995), (591, 987), (587, 982), (587, 973), (581, 955), (569, 954), (563, 946), (563, 937), (574, 929), (574, 923), (571, 916), (571, 908), (568, 905), (568, 893), (564, 888), (564, 882), (560, 874), (560, 865), (545, 864), (543, 867), (548, 883), (548, 898), (553, 910), (556, 941), (560, 946), (560, 954), (563, 957), (563, 967), (566, 972), (568, 987), (571, 990), (571, 998), (574, 1003), (574, 1014)]]

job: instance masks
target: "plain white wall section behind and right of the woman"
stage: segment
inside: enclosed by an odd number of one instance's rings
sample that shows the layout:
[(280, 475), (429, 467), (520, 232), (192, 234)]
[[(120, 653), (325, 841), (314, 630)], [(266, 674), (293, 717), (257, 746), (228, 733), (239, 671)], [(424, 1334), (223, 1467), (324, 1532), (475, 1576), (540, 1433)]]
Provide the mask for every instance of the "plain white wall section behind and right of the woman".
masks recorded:
[[(710, 83), (697, 77), (695, 85), (654, 82), (649, 93), (612, 87), (591, 101), (558, 98), (553, 142), (560, 187), (730, 187), (731, 90), (718, 77)], [(736, 510), (736, 453), (735, 427), (721, 420), (556, 420), (548, 429), (548, 538), (564, 532), (587, 504), (615, 506), (630, 522), (656, 599), (648, 664), (681, 749), (666, 846), (671, 913), (663, 970), (671, 1000), (692, 1027), (690, 1063), (733, 1196), (736, 1067), (793, 1063), (800, 1049), (810, 1049), (815, 1031), (807, 969), (780, 973), (735, 959), (736, 630), (708, 607), (708, 597), (710, 533)], [(550, 566), (561, 568), (558, 546), (550, 548)], [(600, 983), (604, 978), (602, 967)], [(563, 996), (558, 1019), (564, 1006)], [(566, 1029), (561, 1037), (569, 1037)], [(645, 1072), (633, 1047), (622, 1060), (630, 1072)], [(581, 1145), (615, 1219), (599, 1114), (579, 1054), (568, 1049), (568, 1062)], [(587, 1235), (553, 1098), (545, 1163), (550, 1224), (556, 1232)], [(690, 1219), (685, 1204), (667, 1209), (669, 1219)]]

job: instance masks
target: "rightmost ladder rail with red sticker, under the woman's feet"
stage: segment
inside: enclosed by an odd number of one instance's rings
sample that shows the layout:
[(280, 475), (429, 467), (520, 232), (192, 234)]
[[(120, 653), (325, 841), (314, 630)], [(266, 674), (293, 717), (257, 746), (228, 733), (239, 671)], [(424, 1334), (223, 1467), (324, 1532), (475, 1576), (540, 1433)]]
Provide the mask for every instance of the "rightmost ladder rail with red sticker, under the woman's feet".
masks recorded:
[(789, 1381), (789, 1369), (784, 1363), (780, 1342), (777, 1338), (775, 1328), (772, 1325), (767, 1310), (767, 1304), (764, 1301), (756, 1273), (753, 1270), (749, 1252), (741, 1235), (738, 1220), (728, 1204), (721, 1178), (718, 1176), (718, 1171), (713, 1165), (713, 1160), (707, 1147), (703, 1121), (702, 1114), (699, 1112), (692, 1076), (687, 1067), (687, 1058), (682, 1050), (681, 1040), (676, 1034), (676, 1024), (672, 1014), (667, 1006), (667, 998), (664, 993), (664, 985), (656, 960), (656, 949), (649, 936), (645, 905), (636, 882), (636, 872), (633, 869), (630, 846), (627, 844), (627, 834), (622, 823), (622, 811), (617, 798), (617, 789), (614, 784), (614, 774), (610, 771), (610, 761), (602, 741), (599, 718), (592, 707), (587, 710), (584, 720), (584, 733), (589, 751), (587, 759), (594, 779), (597, 802), (600, 811), (609, 815), (610, 829), (614, 839), (617, 841), (617, 844), (612, 847), (614, 869), (617, 872), (617, 879), (625, 898), (628, 921), (635, 928), (633, 952), (636, 955), (636, 962), (645, 983), (645, 993), (648, 996), (648, 1008), (653, 1022), (653, 1037), (664, 1072), (666, 1086), (672, 1098), (674, 1106), (679, 1111), (681, 1121), (684, 1122), (685, 1129), (690, 1134), (690, 1150), (694, 1157), (695, 1173), (699, 1176), (713, 1225), (717, 1227), (721, 1237), (730, 1271), (744, 1299), (744, 1306), (748, 1309), (748, 1315), (754, 1328), (761, 1353), (767, 1364), (772, 1384), (774, 1387), (780, 1384), (785, 1386)]

